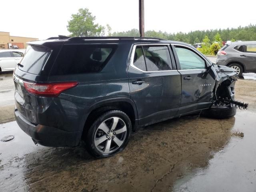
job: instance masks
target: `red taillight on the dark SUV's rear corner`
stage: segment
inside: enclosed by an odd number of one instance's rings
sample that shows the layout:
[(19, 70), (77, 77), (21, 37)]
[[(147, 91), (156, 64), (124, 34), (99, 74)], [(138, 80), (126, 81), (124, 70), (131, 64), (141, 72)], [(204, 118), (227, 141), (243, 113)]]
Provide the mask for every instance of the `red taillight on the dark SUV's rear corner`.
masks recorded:
[(30, 83), (23, 82), (26, 90), (38, 96), (57, 97), (64, 90), (77, 86), (78, 82)]

